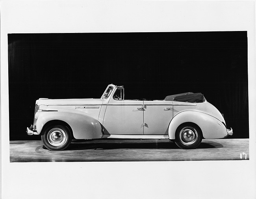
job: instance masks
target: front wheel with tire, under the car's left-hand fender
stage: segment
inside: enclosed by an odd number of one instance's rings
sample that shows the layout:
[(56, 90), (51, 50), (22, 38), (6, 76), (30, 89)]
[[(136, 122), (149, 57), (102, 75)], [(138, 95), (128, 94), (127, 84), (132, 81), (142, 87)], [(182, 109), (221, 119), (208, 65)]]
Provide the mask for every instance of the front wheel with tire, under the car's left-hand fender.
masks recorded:
[(69, 146), (72, 137), (67, 126), (50, 125), (43, 130), (41, 139), (49, 150), (61, 151)]

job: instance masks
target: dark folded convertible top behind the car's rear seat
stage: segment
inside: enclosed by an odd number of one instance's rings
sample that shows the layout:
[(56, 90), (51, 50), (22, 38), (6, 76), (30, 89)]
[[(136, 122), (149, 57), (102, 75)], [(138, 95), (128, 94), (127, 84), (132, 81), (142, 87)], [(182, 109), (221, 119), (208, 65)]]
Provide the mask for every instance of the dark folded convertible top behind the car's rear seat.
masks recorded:
[(177, 101), (177, 102), (192, 102), (200, 103), (205, 101), (205, 97), (202, 93), (180, 93), (176, 95), (169, 95), (165, 97), (166, 101)]

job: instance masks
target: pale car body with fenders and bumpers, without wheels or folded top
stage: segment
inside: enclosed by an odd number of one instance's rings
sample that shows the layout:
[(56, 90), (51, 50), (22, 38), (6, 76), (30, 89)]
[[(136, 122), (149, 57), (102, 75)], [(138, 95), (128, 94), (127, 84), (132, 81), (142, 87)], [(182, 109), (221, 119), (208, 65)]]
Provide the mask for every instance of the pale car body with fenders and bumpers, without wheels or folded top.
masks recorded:
[(124, 88), (113, 84), (100, 99), (37, 100), (34, 124), (27, 128), (28, 135), (40, 135), (49, 122), (67, 124), (75, 139), (174, 140), (177, 128), (186, 122), (196, 124), (205, 139), (232, 135), (221, 113), (206, 100), (124, 100)]

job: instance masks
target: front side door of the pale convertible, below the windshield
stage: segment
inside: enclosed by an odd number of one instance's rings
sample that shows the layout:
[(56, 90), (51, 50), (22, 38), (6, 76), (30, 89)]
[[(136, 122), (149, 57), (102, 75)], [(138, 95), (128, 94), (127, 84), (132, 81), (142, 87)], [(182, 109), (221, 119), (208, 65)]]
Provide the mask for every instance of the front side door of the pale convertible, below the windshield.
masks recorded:
[(143, 101), (110, 99), (103, 126), (104, 134), (143, 135)]

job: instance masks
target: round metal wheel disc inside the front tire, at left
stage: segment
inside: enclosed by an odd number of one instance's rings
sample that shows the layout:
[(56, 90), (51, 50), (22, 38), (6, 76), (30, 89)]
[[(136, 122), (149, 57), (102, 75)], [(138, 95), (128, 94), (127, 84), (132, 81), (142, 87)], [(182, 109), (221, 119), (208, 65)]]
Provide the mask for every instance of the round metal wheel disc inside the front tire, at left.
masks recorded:
[(61, 128), (53, 128), (47, 133), (47, 141), (52, 146), (60, 146), (66, 139), (66, 133)]

